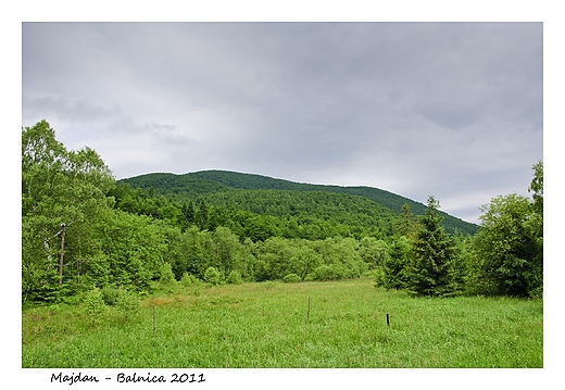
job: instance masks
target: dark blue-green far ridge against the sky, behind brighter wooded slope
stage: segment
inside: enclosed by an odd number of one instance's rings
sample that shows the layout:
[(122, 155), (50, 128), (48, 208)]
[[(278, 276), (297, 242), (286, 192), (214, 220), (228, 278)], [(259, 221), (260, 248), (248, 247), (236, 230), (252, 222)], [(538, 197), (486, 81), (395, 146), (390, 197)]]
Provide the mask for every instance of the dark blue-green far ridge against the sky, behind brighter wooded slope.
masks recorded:
[[(241, 193), (237, 196), (235, 193), (231, 193), (229, 197), (227, 197), (225, 192), (230, 192), (234, 190), (284, 190), (300, 192), (331, 192), (347, 194), (350, 197), (360, 197), (371, 200), (386, 209), (391, 210), (394, 214), (400, 213), (404, 203), (410, 205), (414, 215), (422, 215), (426, 210), (426, 206), (422, 203), (373, 187), (340, 187), (326, 185), (311, 185), (304, 183), (294, 183), (290, 180), (277, 179), (255, 174), (243, 174), (228, 171), (202, 171), (187, 173), (184, 175), (175, 175), (170, 173), (153, 173), (130, 177), (121, 181), (128, 183), (134, 188), (140, 187), (149, 189), (150, 187), (152, 187), (156, 193), (161, 193), (178, 200), (193, 199), (203, 196), (206, 196), (206, 198), (211, 197), (210, 199), (215, 199), (216, 201), (218, 199), (223, 199), (223, 202), (226, 205), (228, 203), (236, 203), (242, 206), (246, 205), (246, 209), (248, 209), (249, 211), (253, 211), (251, 210), (253, 207), (255, 207), (256, 210), (264, 210), (265, 207), (267, 207), (265, 204), (263, 204), (265, 202), (265, 198), (258, 194), (253, 197), (250, 197), (249, 194), (242, 197)], [(219, 192), (224, 192), (224, 194), (219, 197)], [(238, 199), (238, 201), (235, 201), (236, 198)], [(251, 198), (255, 199), (256, 204), (250, 205)], [(385, 212), (385, 214), (387, 213)], [(444, 217), (443, 226), (445, 230), (449, 232), (454, 232), (455, 230), (459, 230), (463, 234), (475, 234), (475, 231), (477, 230), (477, 225), (467, 223), (443, 212), (442, 215)]]

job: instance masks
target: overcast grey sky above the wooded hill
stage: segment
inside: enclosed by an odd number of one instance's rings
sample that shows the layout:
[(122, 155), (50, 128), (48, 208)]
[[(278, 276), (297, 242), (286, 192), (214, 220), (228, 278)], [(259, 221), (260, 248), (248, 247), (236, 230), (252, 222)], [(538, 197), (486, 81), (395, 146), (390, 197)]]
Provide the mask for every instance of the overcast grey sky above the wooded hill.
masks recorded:
[(541, 23), (24, 23), (22, 125), (120, 178), (371, 186), (477, 222), (528, 196)]

